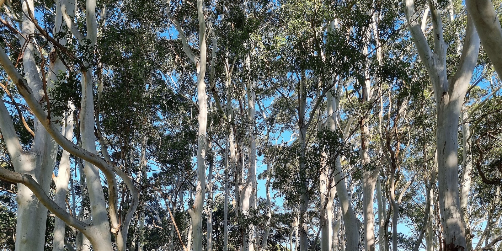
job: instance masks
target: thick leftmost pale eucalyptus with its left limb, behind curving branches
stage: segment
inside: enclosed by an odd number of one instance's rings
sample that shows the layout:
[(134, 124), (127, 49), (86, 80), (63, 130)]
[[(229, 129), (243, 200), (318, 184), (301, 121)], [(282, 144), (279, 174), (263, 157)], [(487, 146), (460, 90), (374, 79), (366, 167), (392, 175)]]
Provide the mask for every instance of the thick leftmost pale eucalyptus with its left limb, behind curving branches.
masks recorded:
[[(2, 2), (4, 6), (5, 2)], [(56, 21), (62, 23), (61, 3), (56, 10)], [(4, 18), (2, 22), (4, 26), (12, 28), (11, 30), (18, 36), (20, 48), (12, 48), (12, 57), (15, 54), (22, 55), (23, 70), (25, 72), (27, 84), (34, 90), (33, 95), (36, 99), (41, 100), (47, 96), (47, 88), (53, 86), (53, 82), (57, 81), (57, 74), (61, 70), (65, 70), (61, 60), (55, 57), (55, 52), (49, 63), (43, 60), (42, 64), (49, 64), (50, 72), (45, 72), (45, 66), (42, 65), (44, 72), (39, 73), (37, 62), (35, 61), (36, 54), (42, 53), (41, 47), (38, 45), (36, 38), (32, 36), (35, 33), (35, 24), (31, 21), (35, 6), (33, 1), (24, 1), (20, 3), (7, 2), (5, 3)], [(69, 10), (69, 12), (71, 12)], [(12, 22), (9, 22), (11, 20)], [(18, 26), (19, 25), (19, 26)], [(19, 27), (19, 28), (18, 28)], [(55, 35), (60, 30), (54, 29), (51, 31)], [(39, 40), (40, 41), (40, 40)], [(61, 43), (65, 43), (63, 39)], [(54, 47), (54, 44), (51, 44)], [(20, 58), (20, 57), (18, 57)], [(6, 58), (7, 59), (7, 58)], [(19, 60), (18, 60), (19, 62)], [(46, 76), (47, 74), (47, 76)], [(7, 78), (6, 78), (7, 79)], [(6, 81), (8, 82), (8, 81)], [(12, 125), (12, 119), (8, 110), (2, 102), (2, 134), (7, 139), (12, 139), (9, 144), (6, 144), (9, 156), (12, 160), (14, 170), (19, 173), (29, 174), (34, 180), (39, 182), (42, 189), (48, 193), (51, 182), (51, 175), (56, 161), (57, 144), (51, 139), (50, 135), (43, 129), (42, 123), (35, 119), (34, 131), (38, 134), (33, 134), (33, 143), (29, 151), (25, 151), (19, 145), (16, 131)], [(49, 116), (50, 118), (50, 113)], [(45, 119), (45, 118), (43, 118)], [(55, 120), (50, 123), (57, 124)], [(11, 134), (11, 135), (9, 135)], [(61, 179), (62, 180), (62, 179)], [(18, 215), (17, 215), (17, 231), (16, 231), (16, 249), (17, 250), (42, 250), (45, 239), (45, 224), (47, 218), (47, 209), (35, 198), (32, 191), (26, 186), (20, 184), (18, 188)]]

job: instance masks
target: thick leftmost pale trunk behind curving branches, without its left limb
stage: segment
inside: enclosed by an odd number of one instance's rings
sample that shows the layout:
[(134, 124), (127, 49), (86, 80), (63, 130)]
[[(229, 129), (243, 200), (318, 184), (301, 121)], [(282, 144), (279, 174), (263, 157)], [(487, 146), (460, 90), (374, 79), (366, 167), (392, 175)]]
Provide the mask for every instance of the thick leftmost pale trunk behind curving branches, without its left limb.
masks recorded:
[[(45, 95), (35, 61), (35, 50), (37, 48), (32, 43), (34, 40), (35, 25), (26, 16), (26, 14), (33, 15), (33, 0), (23, 1), (22, 8), (25, 15), (23, 15), (21, 32), (24, 38), (30, 40), (26, 42), (27, 46), (23, 52), (23, 68), (26, 81), (32, 89), (34, 96), (38, 100), (41, 100)], [(25, 43), (23, 37), (20, 37), (21, 44)], [(37, 118), (34, 119), (34, 126), (35, 138), (33, 139), (30, 151), (28, 153), (21, 152), (21, 156), (18, 157), (11, 155), (11, 158), (16, 172), (30, 174), (48, 194), (56, 160), (57, 144)], [(16, 200), (18, 202), (16, 250), (44, 250), (47, 208), (39, 202), (30, 189), (22, 184), (18, 184)]]

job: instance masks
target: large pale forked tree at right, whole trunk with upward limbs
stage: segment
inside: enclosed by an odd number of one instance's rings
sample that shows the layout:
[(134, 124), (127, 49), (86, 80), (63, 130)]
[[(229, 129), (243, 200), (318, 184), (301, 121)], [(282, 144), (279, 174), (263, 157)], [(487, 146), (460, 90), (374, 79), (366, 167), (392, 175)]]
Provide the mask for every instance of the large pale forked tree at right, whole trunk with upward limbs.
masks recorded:
[[(436, 146), (438, 153), (439, 204), (445, 251), (467, 250), (464, 221), (460, 209), (458, 189), (458, 119), (479, 52), (479, 37), (472, 21), (467, 17), (467, 30), (457, 72), (448, 82), (446, 75), (446, 44), (439, 10), (432, 3), (434, 52), (430, 49), (423, 32), (415, 20), (413, 0), (405, 0), (409, 30), (421, 61), (424, 63), (434, 88), (437, 108)], [(498, 27), (500, 29), (500, 27)]]

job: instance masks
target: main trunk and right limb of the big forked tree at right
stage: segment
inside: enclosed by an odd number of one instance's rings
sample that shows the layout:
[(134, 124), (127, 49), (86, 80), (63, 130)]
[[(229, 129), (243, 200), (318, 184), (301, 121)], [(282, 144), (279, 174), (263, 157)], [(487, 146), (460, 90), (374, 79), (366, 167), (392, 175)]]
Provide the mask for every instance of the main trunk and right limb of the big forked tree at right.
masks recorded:
[[(468, 22), (459, 71), (450, 81), (451, 86), (448, 88), (447, 94), (443, 94), (443, 99), (437, 105), (439, 203), (443, 224), (446, 226), (443, 240), (445, 250), (453, 250), (457, 247), (467, 249), (465, 228), (459, 205), (457, 129), (463, 97), (476, 66), (478, 52), (479, 38), (471, 22)], [(439, 90), (435, 89), (435, 91)]]

